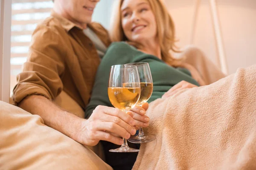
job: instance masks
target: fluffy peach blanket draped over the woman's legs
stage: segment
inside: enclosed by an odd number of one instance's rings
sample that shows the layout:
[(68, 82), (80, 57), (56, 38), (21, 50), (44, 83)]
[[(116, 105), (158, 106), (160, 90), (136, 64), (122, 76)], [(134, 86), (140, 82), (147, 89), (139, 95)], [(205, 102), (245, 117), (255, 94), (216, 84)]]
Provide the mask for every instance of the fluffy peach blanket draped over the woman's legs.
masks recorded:
[(256, 65), (210, 85), (186, 89), (148, 108), (133, 170), (256, 169)]

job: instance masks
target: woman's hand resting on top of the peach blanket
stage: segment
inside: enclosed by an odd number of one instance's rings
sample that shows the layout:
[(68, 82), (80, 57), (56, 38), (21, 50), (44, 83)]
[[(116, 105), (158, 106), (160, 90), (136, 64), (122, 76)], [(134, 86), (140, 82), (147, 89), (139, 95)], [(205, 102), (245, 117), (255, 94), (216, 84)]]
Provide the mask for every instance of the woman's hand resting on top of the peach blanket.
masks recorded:
[(178, 91), (181, 91), (183, 89), (186, 89), (186, 88), (195, 88), (195, 87), (198, 87), (197, 85), (193, 85), (189, 82), (186, 82), (186, 81), (181, 81), (179, 82), (177, 85), (174, 85), (172, 88), (170, 88), (169, 91), (167, 91), (163, 96), (162, 98), (167, 98), (169, 96), (172, 96), (174, 94), (176, 94)]

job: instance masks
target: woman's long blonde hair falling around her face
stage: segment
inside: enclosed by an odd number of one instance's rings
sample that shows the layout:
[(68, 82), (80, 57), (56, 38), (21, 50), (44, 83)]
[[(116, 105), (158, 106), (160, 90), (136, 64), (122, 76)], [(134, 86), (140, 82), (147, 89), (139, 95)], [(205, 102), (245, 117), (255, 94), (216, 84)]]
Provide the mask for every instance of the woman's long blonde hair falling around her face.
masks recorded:
[[(114, 41), (128, 41), (125, 33), (122, 29), (122, 17), (121, 17), (121, 6), (124, 0), (115, 0), (112, 17), (111, 17), (111, 28), (110, 37)], [(180, 52), (175, 46), (175, 26), (172, 17), (168, 13), (168, 10), (162, 0), (148, 0), (151, 6), (153, 14), (156, 18), (157, 24), (157, 37), (161, 48), (161, 57), (164, 62), (172, 66), (178, 66), (180, 59), (175, 59), (170, 54), (170, 51)], [(138, 48), (138, 45), (134, 42), (129, 42)]]

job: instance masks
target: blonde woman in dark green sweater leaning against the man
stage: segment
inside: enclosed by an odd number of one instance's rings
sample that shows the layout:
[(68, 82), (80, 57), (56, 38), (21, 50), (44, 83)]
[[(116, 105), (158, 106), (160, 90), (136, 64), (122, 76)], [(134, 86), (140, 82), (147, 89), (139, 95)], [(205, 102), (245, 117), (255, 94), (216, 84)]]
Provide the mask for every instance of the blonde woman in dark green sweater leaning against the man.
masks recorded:
[[(177, 51), (174, 23), (161, 0), (115, 1), (110, 29), (114, 43), (99, 66), (90, 103), (85, 111), (87, 118), (98, 105), (112, 106), (107, 91), (111, 65), (148, 62), (154, 84), (148, 102), (161, 98), (170, 89), (166, 96), (184, 87), (199, 85), (189, 70), (180, 67), (182, 61), (170, 54), (170, 51)], [(108, 164), (114, 169), (131, 169), (137, 153), (110, 153), (108, 150), (113, 149), (114, 145), (109, 142), (103, 142), (103, 145)]]

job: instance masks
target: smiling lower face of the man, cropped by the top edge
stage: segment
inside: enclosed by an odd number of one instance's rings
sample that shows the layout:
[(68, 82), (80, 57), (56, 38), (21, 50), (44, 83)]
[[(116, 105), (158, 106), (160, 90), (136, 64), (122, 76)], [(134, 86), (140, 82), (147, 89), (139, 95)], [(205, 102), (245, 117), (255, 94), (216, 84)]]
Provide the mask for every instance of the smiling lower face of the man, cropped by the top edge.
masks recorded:
[(67, 19), (78, 24), (88, 24), (92, 20), (93, 10), (99, 0), (59, 0), (62, 13)]

